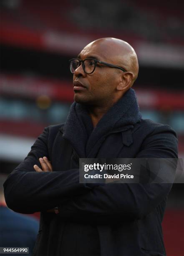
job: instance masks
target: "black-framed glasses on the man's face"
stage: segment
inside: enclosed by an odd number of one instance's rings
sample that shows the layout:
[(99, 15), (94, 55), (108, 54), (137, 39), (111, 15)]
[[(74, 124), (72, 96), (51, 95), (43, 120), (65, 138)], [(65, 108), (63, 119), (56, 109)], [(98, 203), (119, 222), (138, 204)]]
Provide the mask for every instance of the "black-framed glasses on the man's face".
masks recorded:
[(81, 63), (82, 63), (83, 71), (86, 74), (93, 73), (95, 71), (97, 63), (106, 65), (108, 67), (121, 69), (123, 72), (126, 72), (126, 70), (121, 68), (121, 67), (118, 67), (118, 66), (115, 66), (113, 64), (109, 64), (109, 63), (106, 63), (106, 62), (103, 62), (103, 61), (98, 61), (97, 59), (87, 58), (87, 59), (81, 60), (81, 59), (78, 59), (78, 58), (73, 58), (73, 59), (70, 59), (69, 61), (70, 61), (70, 71), (71, 71), (72, 74), (81, 65)]

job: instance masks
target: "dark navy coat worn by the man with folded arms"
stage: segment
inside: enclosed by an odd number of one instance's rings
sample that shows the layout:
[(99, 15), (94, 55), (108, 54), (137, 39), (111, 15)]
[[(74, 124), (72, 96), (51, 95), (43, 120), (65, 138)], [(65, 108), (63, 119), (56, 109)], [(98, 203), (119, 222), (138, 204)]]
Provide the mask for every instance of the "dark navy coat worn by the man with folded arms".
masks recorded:
[[(89, 137), (91, 141), (86, 148), (82, 145), (84, 130), (78, 127), (75, 115), (70, 115), (65, 125), (45, 128), (28, 157), (5, 182), (5, 199), (11, 209), (41, 212), (35, 256), (65, 255), (62, 244), (66, 223), (81, 226), (84, 233), (81, 243), (76, 240), (83, 247), (83, 254), (71, 255), (85, 255), (85, 250), (88, 251), (88, 227), (95, 228), (92, 233), (96, 232), (98, 238), (91, 238), (91, 244), (99, 239), (102, 256), (166, 255), (161, 221), (172, 184), (98, 184), (94, 187), (79, 184), (79, 157), (177, 158), (175, 132), (168, 125), (137, 118), (137, 103), (131, 101), (132, 95), (129, 95), (122, 103), (125, 110), (122, 116), (117, 115), (114, 108), (107, 115), (107, 120), (111, 120), (110, 116), (115, 113), (113, 124), (108, 124), (104, 117), (94, 134), (91, 133), (94, 137)], [(134, 102), (132, 108), (129, 102)], [(68, 122), (75, 125), (67, 125)], [(110, 128), (107, 130), (106, 126)], [(53, 172), (34, 171), (33, 165), (39, 165), (38, 159), (43, 156), (50, 159)], [(59, 206), (59, 214), (46, 212), (55, 206)], [(68, 236), (67, 241), (69, 250), (73, 239), (69, 241)]]

